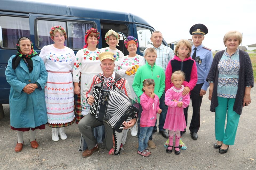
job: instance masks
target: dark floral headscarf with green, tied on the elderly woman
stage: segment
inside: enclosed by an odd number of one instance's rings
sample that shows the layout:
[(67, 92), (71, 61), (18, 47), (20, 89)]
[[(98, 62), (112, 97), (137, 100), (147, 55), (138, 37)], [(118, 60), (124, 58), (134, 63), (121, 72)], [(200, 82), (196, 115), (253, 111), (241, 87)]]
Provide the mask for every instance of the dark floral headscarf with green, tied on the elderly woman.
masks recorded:
[(21, 61), (21, 58), (25, 58), (25, 60), (27, 61), (27, 65), (29, 67), (29, 72), (31, 72), (33, 70), (33, 60), (32, 60), (32, 57), (34, 56), (37, 56), (37, 52), (33, 49), (33, 43), (32, 41), (28, 38), (28, 37), (25, 37), (27, 39), (30, 40), (30, 43), (31, 43), (31, 51), (29, 54), (23, 54), (21, 52), (21, 48), (19, 46), (19, 41), (20, 39), (23, 38), (23, 37), (20, 37), (17, 44), (16, 44), (16, 48), (17, 48), (17, 54), (16, 56), (13, 58), (12, 60), (12, 63), (11, 63), (11, 66), (12, 68), (15, 70), (17, 68), (17, 66), (19, 65), (20, 61)]

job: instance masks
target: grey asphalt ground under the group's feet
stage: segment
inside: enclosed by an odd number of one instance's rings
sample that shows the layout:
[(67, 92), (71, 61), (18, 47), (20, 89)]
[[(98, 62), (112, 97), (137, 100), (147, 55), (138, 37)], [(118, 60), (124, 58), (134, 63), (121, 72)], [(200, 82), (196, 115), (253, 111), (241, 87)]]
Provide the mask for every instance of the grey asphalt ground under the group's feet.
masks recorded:
[[(99, 151), (88, 158), (82, 158), (78, 152), (80, 133), (77, 124), (66, 129), (67, 139), (58, 142), (51, 140), (51, 128), (38, 130), (37, 149), (32, 149), (29, 143), (29, 133), (24, 133), (23, 150), (14, 152), (17, 134), (10, 129), (9, 105), (4, 105), (5, 118), (0, 121), (0, 169), (256, 169), (256, 93), (251, 91), (252, 103), (244, 107), (240, 117), (235, 145), (230, 146), (226, 154), (219, 154), (213, 148), (215, 141), (214, 113), (210, 112), (208, 92), (203, 97), (201, 107), (201, 126), (198, 140), (191, 139), (189, 128), (183, 134), (183, 142), (187, 150), (180, 155), (167, 154), (163, 147), (165, 138), (158, 132), (153, 134), (157, 145), (151, 149), (148, 158), (137, 154), (137, 137), (128, 133), (125, 151), (120, 155), (108, 155), (105, 143), (99, 144)], [(192, 107), (190, 103), (190, 123)]]

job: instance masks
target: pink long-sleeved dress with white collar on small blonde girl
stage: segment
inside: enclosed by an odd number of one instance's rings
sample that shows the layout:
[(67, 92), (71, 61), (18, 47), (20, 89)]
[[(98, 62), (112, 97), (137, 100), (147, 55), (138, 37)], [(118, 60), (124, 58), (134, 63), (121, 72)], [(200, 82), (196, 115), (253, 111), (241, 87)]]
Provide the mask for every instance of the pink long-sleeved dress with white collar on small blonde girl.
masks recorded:
[[(168, 111), (166, 114), (164, 129), (169, 129), (173, 131), (184, 131), (186, 128), (185, 116), (183, 113), (183, 108), (188, 107), (190, 102), (189, 94), (186, 96), (182, 95), (184, 86), (181, 85), (181, 88), (171, 87), (165, 93), (165, 104), (168, 106)], [(182, 107), (177, 107), (177, 102), (173, 101), (182, 101)]]

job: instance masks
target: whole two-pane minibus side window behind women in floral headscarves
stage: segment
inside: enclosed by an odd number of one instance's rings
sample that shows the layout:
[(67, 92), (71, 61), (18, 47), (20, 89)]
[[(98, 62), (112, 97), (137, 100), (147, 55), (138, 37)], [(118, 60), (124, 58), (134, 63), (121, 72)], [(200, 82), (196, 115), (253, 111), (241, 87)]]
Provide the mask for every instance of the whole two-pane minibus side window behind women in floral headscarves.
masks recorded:
[(64, 45), (71, 49), (82, 49), (85, 45), (86, 30), (95, 27), (93, 22), (37, 20), (37, 46), (39, 49), (53, 44), (49, 32), (51, 27), (56, 25), (61, 25), (66, 30), (68, 40), (65, 40)]

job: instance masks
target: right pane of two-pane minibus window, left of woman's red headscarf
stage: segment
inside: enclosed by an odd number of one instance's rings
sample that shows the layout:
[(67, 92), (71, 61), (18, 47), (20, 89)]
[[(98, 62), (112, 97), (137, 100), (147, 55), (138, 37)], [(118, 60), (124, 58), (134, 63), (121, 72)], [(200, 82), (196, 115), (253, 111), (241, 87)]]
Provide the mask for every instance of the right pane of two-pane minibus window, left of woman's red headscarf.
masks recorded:
[(82, 49), (85, 45), (85, 32), (90, 28), (95, 28), (94, 23), (67, 22), (69, 48)]

